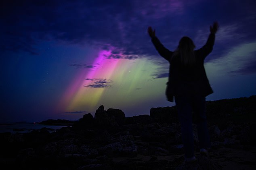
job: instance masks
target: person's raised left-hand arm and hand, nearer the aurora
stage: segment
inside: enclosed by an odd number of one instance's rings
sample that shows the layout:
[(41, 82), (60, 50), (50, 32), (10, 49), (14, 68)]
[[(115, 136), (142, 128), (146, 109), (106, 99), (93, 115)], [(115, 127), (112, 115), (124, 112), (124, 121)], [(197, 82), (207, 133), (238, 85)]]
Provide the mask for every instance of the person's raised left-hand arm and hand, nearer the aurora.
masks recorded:
[(168, 50), (163, 46), (163, 44), (159, 41), (159, 39), (155, 36), (155, 29), (153, 30), (152, 27), (148, 27), (147, 29), (149, 36), (151, 37), (151, 41), (155, 46), (155, 49), (158, 51), (160, 56), (164, 57), (166, 60), (170, 61), (173, 52)]

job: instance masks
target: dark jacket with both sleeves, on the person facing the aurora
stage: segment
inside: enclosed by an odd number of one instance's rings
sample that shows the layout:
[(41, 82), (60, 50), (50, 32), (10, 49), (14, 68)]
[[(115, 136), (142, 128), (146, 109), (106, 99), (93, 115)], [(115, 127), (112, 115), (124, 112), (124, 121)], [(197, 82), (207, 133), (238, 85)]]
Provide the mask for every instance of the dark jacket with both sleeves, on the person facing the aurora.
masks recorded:
[(213, 93), (204, 69), (204, 59), (212, 52), (215, 34), (211, 33), (206, 44), (194, 51), (196, 64), (187, 67), (181, 64), (179, 57), (172, 59), (174, 52), (166, 49), (157, 37), (153, 37), (151, 40), (158, 53), (170, 63), (166, 87), (168, 101), (173, 102), (173, 96), (176, 95), (198, 94), (207, 96)]

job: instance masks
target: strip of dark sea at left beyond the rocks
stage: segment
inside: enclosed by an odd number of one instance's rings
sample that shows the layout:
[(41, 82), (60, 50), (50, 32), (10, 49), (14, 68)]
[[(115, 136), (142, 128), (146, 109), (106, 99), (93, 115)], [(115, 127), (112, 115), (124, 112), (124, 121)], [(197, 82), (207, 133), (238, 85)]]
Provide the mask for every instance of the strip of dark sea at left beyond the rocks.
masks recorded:
[(0, 123), (0, 133), (10, 132), (12, 134), (15, 133), (29, 133), (33, 130), (39, 130), (42, 128), (49, 128), (49, 132), (55, 132), (62, 127), (67, 126), (58, 126), (58, 125), (44, 125), (44, 124), (36, 124), (30, 122), (15, 122), (15, 123)]

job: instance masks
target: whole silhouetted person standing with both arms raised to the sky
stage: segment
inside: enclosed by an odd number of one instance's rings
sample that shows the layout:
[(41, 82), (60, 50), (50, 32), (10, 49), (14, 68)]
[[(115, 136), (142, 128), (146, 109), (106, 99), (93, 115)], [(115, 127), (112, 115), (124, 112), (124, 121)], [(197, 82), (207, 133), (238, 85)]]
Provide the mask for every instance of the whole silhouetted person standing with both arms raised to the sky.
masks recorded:
[[(210, 35), (206, 44), (195, 49), (192, 39), (184, 36), (174, 51), (165, 48), (155, 35), (155, 29), (148, 27), (148, 34), (155, 49), (170, 63), (166, 97), (176, 104), (184, 145), (185, 162), (194, 162), (193, 114), (197, 125), (197, 135), (201, 155), (208, 155), (210, 136), (206, 121), (206, 96), (213, 93), (204, 68), (204, 59), (213, 50), (218, 22), (210, 25)], [(174, 99), (174, 100), (173, 100)]]

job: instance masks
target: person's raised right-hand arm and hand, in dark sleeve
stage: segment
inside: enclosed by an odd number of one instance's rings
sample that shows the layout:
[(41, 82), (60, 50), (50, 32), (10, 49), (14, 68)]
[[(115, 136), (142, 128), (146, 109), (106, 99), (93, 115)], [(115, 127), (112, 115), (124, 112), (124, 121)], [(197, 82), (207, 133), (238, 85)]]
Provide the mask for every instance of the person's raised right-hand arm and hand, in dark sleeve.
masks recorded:
[(215, 41), (215, 33), (218, 31), (219, 24), (214, 22), (213, 25), (210, 25), (210, 35), (206, 41), (206, 44), (197, 50), (200, 53), (200, 56), (206, 58), (212, 52), (214, 41)]

